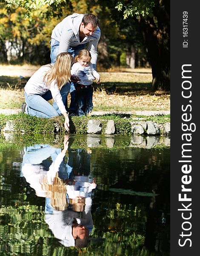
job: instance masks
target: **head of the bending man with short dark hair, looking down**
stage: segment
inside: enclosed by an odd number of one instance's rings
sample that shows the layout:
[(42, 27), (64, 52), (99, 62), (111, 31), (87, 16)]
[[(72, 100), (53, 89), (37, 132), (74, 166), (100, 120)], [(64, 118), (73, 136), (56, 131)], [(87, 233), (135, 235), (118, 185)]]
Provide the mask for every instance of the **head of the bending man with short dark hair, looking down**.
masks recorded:
[(99, 20), (97, 16), (87, 13), (83, 16), (83, 20), (80, 23), (80, 31), (83, 32), (84, 35), (90, 36), (97, 29), (98, 24)]

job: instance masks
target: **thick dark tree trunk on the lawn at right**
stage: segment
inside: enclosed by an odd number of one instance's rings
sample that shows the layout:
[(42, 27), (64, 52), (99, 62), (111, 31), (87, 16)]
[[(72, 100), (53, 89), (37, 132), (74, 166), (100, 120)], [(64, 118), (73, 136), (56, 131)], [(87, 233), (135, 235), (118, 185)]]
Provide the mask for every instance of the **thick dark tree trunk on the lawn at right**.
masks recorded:
[[(140, 18), (152, 68), (152, 89), (170, 91), (170, 23), (169, 1), (160, 1), (154, 8), (154, 18)], [(155, 19), (157, 21), (155, 22)]]

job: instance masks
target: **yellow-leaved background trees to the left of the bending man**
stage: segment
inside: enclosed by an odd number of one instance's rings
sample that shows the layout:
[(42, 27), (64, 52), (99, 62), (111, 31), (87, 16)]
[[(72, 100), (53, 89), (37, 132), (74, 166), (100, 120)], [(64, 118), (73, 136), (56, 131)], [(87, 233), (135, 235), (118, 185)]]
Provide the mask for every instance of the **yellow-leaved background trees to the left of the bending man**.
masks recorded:
[(8, 8), (0, 1), (0, 62), (49, 63), (52, 29), (70, 12), (70, 4), (65, 8), (60, 4), (32, 10), (31, 17), (26, 17), (26, 8), (14, 4)]

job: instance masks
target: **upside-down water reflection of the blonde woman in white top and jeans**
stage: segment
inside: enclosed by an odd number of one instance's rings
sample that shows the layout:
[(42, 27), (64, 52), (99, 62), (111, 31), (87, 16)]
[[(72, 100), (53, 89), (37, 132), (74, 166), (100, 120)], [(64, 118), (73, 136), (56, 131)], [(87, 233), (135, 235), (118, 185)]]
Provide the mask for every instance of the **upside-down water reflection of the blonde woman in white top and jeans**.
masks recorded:
[[(68, 149), (68, 137), (64, 140), (64, 149), (53, 148), (50, 145), (34, 145), (25, 148), (22, 173), (26, 181), (35, 190), (37, 196), (51, 198), (48, 203), (54, 209), (67, 208), (66, 183), (58, 177), (62, 172), (63, 158)], [(53, 162), (51, 163), (49, 157)], [(51, 164), (50, 164), (51, 163)], [(60, 170), (61, 169), (61, 170)]]

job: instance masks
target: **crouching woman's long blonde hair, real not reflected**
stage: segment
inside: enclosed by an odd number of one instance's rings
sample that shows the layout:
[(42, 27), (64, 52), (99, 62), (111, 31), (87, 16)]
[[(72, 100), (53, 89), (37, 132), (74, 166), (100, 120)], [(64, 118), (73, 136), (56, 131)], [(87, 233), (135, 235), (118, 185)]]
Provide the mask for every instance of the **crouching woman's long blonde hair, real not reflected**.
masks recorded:
[(48, 64), (50, 70), (44, 75), (43, 81), (46, 82), (47, 87), (51, 82), (57, 82), (57, 87), (60, 90), (63, 85), (70, 81), (71, 64), (73, 57), (68, 52), (61, 52), (57, 55), (55, 64)]

